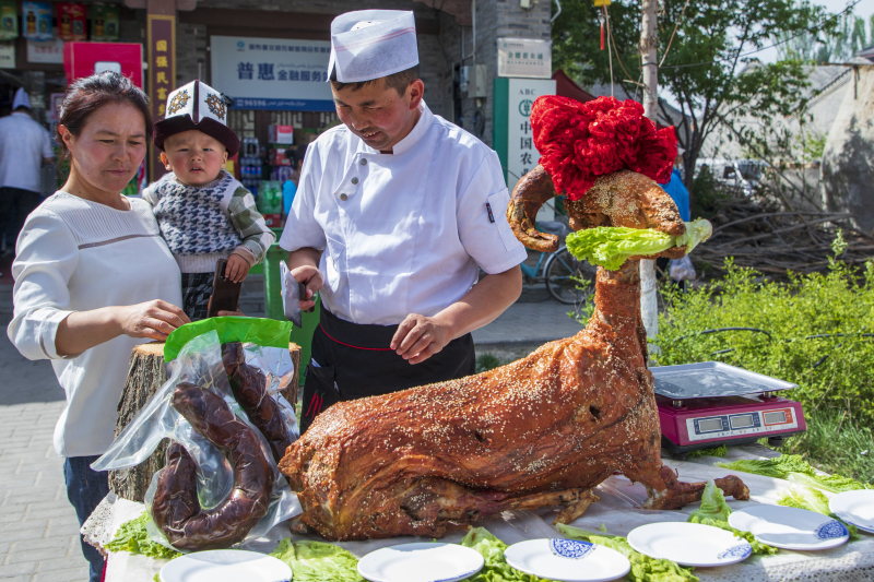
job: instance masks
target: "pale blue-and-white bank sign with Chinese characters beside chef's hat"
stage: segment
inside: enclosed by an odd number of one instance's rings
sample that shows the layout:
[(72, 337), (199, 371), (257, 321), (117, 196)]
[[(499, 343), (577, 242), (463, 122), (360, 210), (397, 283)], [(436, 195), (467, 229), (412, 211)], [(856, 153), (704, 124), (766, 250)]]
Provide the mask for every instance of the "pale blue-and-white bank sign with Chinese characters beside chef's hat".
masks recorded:
[(333, 111), (326, 83), (331, 45), (212, 36), (212, 82), (239, 109)]

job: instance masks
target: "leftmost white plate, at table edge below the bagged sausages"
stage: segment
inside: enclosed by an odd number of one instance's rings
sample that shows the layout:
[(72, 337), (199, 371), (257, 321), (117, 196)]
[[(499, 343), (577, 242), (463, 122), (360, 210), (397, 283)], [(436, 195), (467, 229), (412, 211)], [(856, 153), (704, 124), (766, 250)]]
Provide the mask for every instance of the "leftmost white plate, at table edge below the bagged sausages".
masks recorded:
[(292, 569), (282, 560), (241, 549), (212, 549), (179, 556), (161, 569), (161, 582), (287, 582)]

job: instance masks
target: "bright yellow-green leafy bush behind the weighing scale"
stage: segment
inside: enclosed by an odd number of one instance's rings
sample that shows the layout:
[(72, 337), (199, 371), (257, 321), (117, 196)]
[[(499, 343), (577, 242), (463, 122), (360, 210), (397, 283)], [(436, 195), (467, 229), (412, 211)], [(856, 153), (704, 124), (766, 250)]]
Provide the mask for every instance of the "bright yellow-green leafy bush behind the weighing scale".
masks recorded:
[[(799, 384), (784, 394), (808, 417), (838, 409), (874, 426), (874, 337), (863, 335), (874, 333), (874, 262), (859, 270), (832, 260), (827, 273), (790, 274), (788, 284), (731, 260), (725, 268), (717, 285), (665, 292), (658, 364), (724, 361)], [(767, 333), (701, 333), (732, 326)]]

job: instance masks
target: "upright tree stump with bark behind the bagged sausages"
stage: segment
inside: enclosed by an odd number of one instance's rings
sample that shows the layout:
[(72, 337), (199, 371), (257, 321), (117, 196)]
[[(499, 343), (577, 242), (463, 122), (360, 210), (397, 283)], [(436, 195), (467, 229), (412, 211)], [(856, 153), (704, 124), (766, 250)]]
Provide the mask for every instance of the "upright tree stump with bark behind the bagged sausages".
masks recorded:
[[(288, 352), (294, 364), (295, 381), (283, 391), (283, 396), (292, 404), (297, 405), (297, 387), (300, 373), (300, 346), (288, 344)], [(167, 370), (164, 365), (164, 343), (152, 342), (140, 344), (130, 355), (130, 367), (125, 389), (118, 401), (118, 420), (116, 421), (116, 437), (125, 429), (133, 417), (145, 406), (149, 399), (167, 381)], [(164, 467), (164, 458), (167, 451), (168, 439), (161, 444), (152, 455), (140, 465), (132, 468), (109, 472), (109, 489), (119, 497), (131, 501), (142, 502), (145, 490), (152, 482), (152, 476)]]

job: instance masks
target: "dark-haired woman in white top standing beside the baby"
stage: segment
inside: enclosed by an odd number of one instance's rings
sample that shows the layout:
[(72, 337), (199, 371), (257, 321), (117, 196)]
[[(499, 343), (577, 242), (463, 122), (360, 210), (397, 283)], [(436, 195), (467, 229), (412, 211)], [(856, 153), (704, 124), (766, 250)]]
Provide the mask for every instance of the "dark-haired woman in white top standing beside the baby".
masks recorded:
[[(113, 442), (131, 349), (189, 322), (149, 204), (121, 194), (151, 134), (147, 98), (130, 80), (102, 73), (70, 85), (57, 134), (70, 178), (27, 217), (12, 264), (9, 338), (28, 359), (50, 359), (67, 393), (55, 449), (80, 524), (108, 492), (107, 473), (88, 465)], [(98, 582), (104, 560), (81, 543)]]

